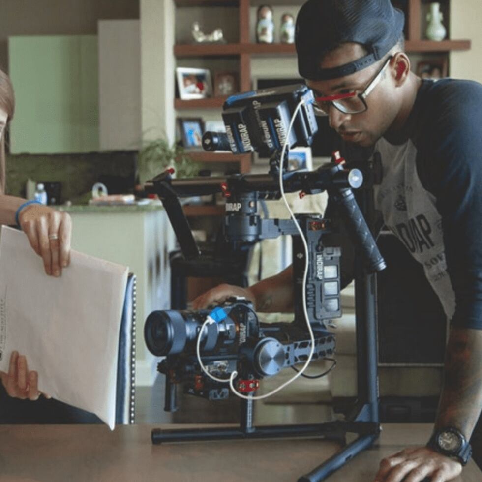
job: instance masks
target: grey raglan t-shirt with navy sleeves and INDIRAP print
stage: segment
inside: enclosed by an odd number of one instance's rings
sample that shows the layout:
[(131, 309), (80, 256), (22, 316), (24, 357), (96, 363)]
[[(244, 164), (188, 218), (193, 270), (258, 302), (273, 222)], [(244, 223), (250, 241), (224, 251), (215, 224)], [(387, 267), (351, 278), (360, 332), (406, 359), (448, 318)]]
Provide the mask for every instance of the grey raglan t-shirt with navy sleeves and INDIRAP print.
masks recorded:
[(409, 139), (380, 139), (375, 204), (454, 325), (482, 329), (482, 85), (423, 81)]

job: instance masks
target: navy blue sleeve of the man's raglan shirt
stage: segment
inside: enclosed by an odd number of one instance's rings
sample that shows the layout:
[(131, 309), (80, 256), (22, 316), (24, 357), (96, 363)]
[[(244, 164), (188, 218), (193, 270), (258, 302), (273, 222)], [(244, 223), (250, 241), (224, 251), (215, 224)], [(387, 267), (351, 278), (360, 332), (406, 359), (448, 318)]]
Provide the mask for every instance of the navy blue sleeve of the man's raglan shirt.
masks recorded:
[(442, 217), (452, 324), (482, 329), (482, 86), (440, 80), (420, 114), (417, 167)]

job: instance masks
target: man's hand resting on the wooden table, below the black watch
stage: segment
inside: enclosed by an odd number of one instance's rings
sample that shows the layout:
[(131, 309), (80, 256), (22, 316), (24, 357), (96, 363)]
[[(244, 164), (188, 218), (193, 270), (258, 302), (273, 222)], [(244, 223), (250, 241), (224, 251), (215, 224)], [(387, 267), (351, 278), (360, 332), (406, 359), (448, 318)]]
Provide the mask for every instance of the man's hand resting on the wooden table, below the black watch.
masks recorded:
[(375, 482), (451, 481), (462, 472), (462, 465), (428, 447), (402, 450), (380, 462)]

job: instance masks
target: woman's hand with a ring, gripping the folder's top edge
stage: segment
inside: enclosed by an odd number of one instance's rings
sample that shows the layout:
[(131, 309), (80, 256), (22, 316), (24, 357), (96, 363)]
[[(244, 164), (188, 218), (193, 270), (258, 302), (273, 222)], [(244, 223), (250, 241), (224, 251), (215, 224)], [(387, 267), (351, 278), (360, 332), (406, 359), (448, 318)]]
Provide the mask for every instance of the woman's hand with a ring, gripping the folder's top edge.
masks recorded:
[(72, 222), (66, 212), (30, 204), (19, 214), (20, 227), (33, 250), (42, 257), (45, 272), (60, 276), (70, 263)]

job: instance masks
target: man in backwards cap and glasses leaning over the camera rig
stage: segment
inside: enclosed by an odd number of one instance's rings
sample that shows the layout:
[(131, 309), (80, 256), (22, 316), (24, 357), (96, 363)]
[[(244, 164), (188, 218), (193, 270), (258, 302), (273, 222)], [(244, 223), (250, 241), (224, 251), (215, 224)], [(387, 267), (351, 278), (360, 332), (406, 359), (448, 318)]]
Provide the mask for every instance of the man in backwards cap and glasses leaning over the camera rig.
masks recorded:
[[(390, 0), (309, 0), (297, 18), (296, 48), (300, 74), (331, 127), (380, 153), (377, 208), (451, 319), (433, 435), (425, 447), (382, 460), (375, 480), (444, 482), (470, 457), (482, 407), (482, 86), (422, 81), (403, 52), (403, 23)], [(291, 267), (247, 289), (213, 288), (193, 306), (232, 295), (260, 311), (289, 311)]]

